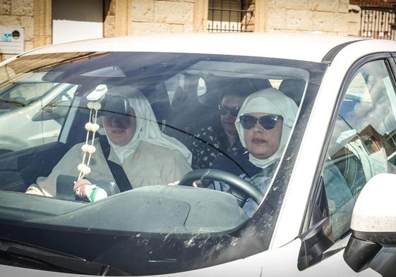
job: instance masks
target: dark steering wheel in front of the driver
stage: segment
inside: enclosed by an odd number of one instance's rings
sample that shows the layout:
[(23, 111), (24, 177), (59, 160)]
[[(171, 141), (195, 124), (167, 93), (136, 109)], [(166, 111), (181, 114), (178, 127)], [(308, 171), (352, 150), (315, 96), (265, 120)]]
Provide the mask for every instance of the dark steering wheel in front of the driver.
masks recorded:
[(258, 190), (257, 187), (251, 185), (246, 180), (236, 176), (227, 171), (221, 171), (219, 169), (196, 169), (186, 173), (181, 178), (179, 185), (191, 186), (195, 180), (218, 180), (229, 185), (230, 191), (234, 197), (238, 200), (239, 206), (243, 206), (248, 198), (253, 199), (254, 202), (260, 204), (263, 199), (263, 193)]

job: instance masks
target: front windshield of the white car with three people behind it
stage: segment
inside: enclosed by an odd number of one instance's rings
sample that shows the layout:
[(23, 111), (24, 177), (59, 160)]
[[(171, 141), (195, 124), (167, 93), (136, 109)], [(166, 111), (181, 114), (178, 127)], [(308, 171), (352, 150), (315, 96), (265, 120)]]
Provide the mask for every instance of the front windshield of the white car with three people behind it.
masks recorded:
[[(136, 275), (266, 249), (304, 133), (304, 99), (315, 97), (324, 70), (321, 63), (214, 54), (15, 59), (0, 68), (7, 109), (65, 87), (40, 98), (31, 115), (6, 118), (8, 126), (29, 118), (25, 128), (41, 140), (0, 154), (4, 229), (23, 226), (25, 235), (10, 239)], [(8, 93), (16, 84), (34, 97)], [(3, 148), (9, 129), (0, 130)], [(257, 214), (268, 214), (260, 245), (246, 240), (228, 255)]]

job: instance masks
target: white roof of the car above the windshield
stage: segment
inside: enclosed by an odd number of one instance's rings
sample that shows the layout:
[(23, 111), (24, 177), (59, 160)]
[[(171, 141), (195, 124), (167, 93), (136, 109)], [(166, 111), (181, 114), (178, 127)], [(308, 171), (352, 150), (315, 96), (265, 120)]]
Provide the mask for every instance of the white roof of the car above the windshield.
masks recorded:
[(145, 51), (268, 56), (321, 62), (329, 52), (334, 51), (332, 49), (335, 47), (361, 39), (337, 35), (282, 32), (134, 35), (53, 44), (28, 51), (25, 54), (75, 51)]

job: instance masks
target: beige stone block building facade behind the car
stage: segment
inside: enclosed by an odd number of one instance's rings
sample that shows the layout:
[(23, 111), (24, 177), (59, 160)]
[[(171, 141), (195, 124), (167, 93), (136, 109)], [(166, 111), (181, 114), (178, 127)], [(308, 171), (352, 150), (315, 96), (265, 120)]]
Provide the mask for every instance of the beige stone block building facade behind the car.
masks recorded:
[[(99, 1), (99, 0), (98, 0)], [(210, 0), (103, 0), (103, 37), (206, 32)], [(253, 32), (359, 35), (359, 6), (350, 0), (250, 0)], [(0, 25), (24, 28), (24, 50), (52, 43), (52, 0), (0, 0)], [(1, 61), (11, 54), (1, 54)]]

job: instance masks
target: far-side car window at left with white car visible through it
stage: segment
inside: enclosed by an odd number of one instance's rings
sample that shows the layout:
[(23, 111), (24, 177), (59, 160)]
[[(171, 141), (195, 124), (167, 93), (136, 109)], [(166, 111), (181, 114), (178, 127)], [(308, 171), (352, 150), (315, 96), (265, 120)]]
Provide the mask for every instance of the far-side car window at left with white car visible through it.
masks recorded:
[(78, 85), (45, 82), (42, 76), (32, 73), (1, 87), (0, 154), (58, 140)]

